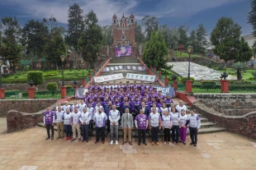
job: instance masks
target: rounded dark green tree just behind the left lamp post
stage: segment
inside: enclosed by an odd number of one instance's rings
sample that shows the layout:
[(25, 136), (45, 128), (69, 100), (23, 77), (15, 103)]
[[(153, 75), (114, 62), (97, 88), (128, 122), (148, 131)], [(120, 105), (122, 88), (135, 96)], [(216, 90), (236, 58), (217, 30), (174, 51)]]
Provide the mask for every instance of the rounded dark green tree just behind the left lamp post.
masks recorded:
[(66, 46), (61, 34), (55, 34), (45, 45), (45, 54), (47, 61), (54, 62), (58, 70), (58, 63), (61, 63), (59, 56), (66, 54)]

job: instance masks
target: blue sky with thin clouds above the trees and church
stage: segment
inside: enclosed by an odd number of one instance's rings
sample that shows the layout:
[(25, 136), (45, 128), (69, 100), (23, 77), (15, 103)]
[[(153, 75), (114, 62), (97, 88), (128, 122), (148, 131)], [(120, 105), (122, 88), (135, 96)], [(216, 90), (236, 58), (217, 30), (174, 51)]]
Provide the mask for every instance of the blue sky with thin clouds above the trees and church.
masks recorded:
[(218, 19), (225, 16), (242, 26), (242, 35), (252, 32), (247, 23), (250, 0), (0, 0), (0, 17), (16, 16), (20, 25), (24, 25), (31, 19), (41, 21), (53, 14), (59, 26), (67, 28), (69, 6), (74, 2), (84, 13), (93, 10), (100, 25), (111, 25), (114, 13), (118, 18), (123, 13), (125, 16), (133, 13), (139, 22), (143, 16), (156, 16), (159, 25), (185, 24), (189, 30), (203, 24), (207, 34), (211, 34)]

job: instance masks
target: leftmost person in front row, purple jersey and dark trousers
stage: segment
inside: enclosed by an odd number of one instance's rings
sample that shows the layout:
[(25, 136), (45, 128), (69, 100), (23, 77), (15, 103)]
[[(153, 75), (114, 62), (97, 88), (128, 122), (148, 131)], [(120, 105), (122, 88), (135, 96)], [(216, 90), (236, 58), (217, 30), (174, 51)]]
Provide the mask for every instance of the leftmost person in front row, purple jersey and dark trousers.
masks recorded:
[(44, 113), (44, 125), (47, 131), (47, 138), (45, 140), (50, 139), (50, 131), (51, 131), (51, 140), (54, 140), (54, 136), (55, 136), (54, 122), (55, 122), (55, 113), (52, 110), (50, 110), (50, 107), (47, 107)]

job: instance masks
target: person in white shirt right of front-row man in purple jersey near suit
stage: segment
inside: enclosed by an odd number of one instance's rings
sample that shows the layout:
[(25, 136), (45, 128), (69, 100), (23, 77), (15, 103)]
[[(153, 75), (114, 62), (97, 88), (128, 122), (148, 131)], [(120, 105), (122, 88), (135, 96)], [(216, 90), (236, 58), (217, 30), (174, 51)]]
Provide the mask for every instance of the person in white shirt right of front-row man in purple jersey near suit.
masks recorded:
[(161, 117), (159, 113), (156, 113), (155, 108), (152, 109), (152, 113), (149, 114), (149, 130), (151, 131), (151, 144), (159, 145), (159, 130), (161, 129)]

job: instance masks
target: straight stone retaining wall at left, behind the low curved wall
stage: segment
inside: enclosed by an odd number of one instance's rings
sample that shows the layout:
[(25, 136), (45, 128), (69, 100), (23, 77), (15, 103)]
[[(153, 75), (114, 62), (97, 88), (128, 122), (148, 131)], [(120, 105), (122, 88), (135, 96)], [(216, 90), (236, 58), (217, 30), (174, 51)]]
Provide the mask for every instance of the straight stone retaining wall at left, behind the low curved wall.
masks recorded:
[(0, 100), (0, 117), (6, 117), (9, 110), (22, 113), (36, 113), (56, 103), (57, 99), (2, 99)]

